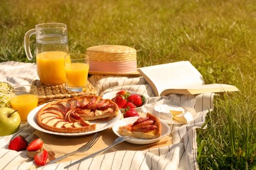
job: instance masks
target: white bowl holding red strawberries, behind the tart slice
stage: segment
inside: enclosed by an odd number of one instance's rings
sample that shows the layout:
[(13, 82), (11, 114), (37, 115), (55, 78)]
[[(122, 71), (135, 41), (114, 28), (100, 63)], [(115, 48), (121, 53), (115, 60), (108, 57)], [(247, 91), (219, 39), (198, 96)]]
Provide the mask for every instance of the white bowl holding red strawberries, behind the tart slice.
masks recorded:
[(140, 112), (142, 105), (148, 103), (144, 95), (127, 90), (109, 92), (104, 94), (102, 98), (114, 101), (123, 113), (129, 109), (135, 109)]

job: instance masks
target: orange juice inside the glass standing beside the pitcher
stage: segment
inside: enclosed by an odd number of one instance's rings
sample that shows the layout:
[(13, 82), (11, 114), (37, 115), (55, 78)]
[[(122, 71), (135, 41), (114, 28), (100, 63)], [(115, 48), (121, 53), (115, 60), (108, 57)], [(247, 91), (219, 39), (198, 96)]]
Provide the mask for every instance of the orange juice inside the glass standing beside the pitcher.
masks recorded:
[(87, 63), (69, 63), (65, 66), (66, 83), (68, 86), (85, 87), (87, 84), (87, 76), (89, 72), (89, 64)]

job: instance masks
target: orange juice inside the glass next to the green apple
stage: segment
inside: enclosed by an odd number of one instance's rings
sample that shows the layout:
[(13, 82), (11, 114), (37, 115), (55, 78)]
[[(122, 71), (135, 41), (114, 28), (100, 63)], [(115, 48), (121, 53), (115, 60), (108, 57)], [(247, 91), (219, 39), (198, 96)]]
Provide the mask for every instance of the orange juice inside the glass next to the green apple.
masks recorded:
[(12, 109), (18, 110), (22, 122), (27, 121), (27, 116), (31, 110), (37, 107), (38, 98), (33, 94), (21, 94), (11, 97)]

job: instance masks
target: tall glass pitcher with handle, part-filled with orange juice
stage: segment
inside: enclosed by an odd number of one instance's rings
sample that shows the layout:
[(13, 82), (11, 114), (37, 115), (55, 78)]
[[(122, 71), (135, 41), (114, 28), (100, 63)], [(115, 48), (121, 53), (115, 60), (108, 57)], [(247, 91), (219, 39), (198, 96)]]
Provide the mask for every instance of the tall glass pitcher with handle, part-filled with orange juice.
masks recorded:
[(66, 24), (45, 23), (35, 25), (24, 37), (24, 47), (28, 59), (32, 60), (30, 36), (35, 34), (37, 75), (44, 84), (56, 85), (66, 81), (64, 56), (69, 53), (68, 30)]

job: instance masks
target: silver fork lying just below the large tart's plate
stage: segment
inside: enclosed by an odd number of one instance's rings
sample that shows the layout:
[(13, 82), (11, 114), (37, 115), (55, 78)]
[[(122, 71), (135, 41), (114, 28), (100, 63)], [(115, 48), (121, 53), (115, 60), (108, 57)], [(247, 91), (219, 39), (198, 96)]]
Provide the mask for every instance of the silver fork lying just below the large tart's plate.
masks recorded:
[(49, 161), (47, 163), (48, 164), (51, 164), (51, 163), (55, 163), (56, 161), (60, 161), (60, 160), (63, 160), (64, 158), (72, 155), (72, 154), (75, 154), (77, 152), (85, 152), (86, 150), (89, 150), (89, 148), (91, 148), (93, 146), (93, 144), (96, 143), (96, 141), (98, 141), (98, 138), (100, 137), (100, 134), (98, 133), (95, 133), (95, 135), (93, 136), (93, 138), (91, 139), (91, 141), (87, 142), (86, 144), (84, 144), (83, 146), (81, 146), (80, 148), (78, 148), (77, 150), (73, 151), (73, 152), (70, 152), (69, 154), (66, 154), (64, 156), (60, 156), (58, 158), (56, 158), (55, 160), (52, 160), (52, 161)]

